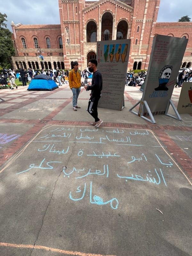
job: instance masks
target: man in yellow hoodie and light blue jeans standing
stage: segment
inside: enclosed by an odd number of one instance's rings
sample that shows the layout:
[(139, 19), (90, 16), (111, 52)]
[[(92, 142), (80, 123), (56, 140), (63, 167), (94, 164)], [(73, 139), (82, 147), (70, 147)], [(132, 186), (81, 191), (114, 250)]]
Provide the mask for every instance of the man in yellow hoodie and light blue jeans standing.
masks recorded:
[(71, 71), (69, 71), (69, 87), (73, 92), (73, 110), (77, 111), (77, 99), (81, 91), (81, 74), (78, 71), (78, 62), (71, 62)]

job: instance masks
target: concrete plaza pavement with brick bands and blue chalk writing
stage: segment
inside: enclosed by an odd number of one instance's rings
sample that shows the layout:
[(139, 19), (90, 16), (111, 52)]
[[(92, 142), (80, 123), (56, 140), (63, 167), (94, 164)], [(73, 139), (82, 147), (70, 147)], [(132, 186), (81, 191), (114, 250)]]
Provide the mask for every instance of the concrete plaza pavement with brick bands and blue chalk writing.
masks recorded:
[(0, 255), (192, 255), (192, 115), (151, 124), (125, 86), (96, 129), (84, 88), (26, 89), (0, 91)]

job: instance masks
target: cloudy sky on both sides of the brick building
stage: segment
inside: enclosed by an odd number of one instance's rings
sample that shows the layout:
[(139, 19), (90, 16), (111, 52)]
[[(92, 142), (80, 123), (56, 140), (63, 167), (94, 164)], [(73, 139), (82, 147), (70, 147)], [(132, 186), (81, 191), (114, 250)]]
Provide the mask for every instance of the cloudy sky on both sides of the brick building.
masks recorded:
[[(60, 24), (58, 0), (46, 1), (15, 1), (8, 0), (9, 4), (1, 4), (0, 12), (7, 15), (7, 28), (12, 32), (11, 22), (23, 25)], [(157, 22), (176, 22), (182, 16), (188, 15), (192, 21), (192, 1), (161, 0)]]

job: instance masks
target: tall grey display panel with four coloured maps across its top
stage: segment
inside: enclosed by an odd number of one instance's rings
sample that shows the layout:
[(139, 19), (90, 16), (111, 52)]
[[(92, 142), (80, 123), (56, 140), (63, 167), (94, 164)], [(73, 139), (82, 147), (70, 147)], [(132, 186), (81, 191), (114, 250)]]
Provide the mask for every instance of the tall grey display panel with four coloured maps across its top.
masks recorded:
[(97, 68), (103, 77), (100, 108), (122, 110), (130, 44), (130, 39), (97, 42)]

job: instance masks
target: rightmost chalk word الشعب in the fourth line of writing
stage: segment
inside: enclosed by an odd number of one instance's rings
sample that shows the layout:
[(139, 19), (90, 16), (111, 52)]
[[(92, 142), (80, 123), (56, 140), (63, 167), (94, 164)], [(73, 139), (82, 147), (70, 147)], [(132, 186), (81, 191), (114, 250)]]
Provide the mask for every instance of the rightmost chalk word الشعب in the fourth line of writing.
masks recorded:
[[(132, 174), (132, 176), (120, 176), (119, 174), (117, 174), (117, 177), (118, 177), (118, 178), (123, 178), (123, 179), (125, 179), (126, 181), (127, 181), (127, 180), (148, 181), (148, 182), (152, 182), (152, 183), (154, 183), (154, 184), (156, 184), (156, 185), (159, 185), (159, 184), (161, 183), (161, 178), (160, 178), (160, 175), (161, 175), (161, 177), (162, 177), (162, 179), (163, 179), (163, 182), (164, 182), (165, 186), (167, 187), (167, 184), (166, 184), (166, 182), (165, 182), (164, 175), (163, 175), (163, 172), (162, 172), (161, 168), (159, 168), (159, 170), (160, 170), (160, 174), (157, 172), (157, 170), (156, 170), (156, 168), (155, 168), (155, 172), (156, 172), (156, 175), (157, 175), (157, 178), (158, 178), (157, 181), (156, 181), (156, 178), (153, 177), (152, 174), (150, 174), (150, 176), (151, 176), (152, 178), (149, 177), (149, 174), (146, 175), (146, 178), (143, 178), (142, 176), (137, 175), (137, 174), (135, 174), (135, 175)], [(151, 171), (148, 171), (148, 172), (150, 173)]]

